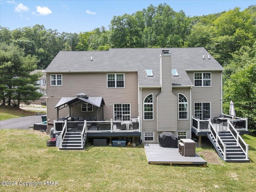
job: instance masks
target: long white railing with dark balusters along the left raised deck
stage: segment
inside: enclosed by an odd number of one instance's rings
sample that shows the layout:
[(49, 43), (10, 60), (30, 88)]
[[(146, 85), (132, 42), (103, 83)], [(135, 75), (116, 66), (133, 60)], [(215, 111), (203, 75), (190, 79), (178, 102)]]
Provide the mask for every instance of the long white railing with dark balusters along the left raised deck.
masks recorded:
[(85, 132), (140, 132), (140, 121), (54, 121), (54, 132), (63, 131), (66, 126), (66, 132), (74, 129), (81, 130), (83, 137)]

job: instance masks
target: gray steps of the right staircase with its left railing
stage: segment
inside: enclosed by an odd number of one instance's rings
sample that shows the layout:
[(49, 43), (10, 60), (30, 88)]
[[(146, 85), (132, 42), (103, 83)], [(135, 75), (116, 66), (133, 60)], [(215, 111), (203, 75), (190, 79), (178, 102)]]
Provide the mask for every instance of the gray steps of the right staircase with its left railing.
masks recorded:
[(216, 140), (214, 139), (212, 134), (207, 134), (207, 137), (212, 142), (214, 148), (216, 149), (222, 160), (233, 163), (250, 162), (249, 159), (246, 159), (245, 152), (242, 150), (242, 147), (237, 144), (236, 139), (230, 131), (219, 132), (218, 136), (219, 140), (221, 140), (226, 145), (226, 158), (224, 158), (224, 154), (220, 149), (219, 145), (216, 144)]

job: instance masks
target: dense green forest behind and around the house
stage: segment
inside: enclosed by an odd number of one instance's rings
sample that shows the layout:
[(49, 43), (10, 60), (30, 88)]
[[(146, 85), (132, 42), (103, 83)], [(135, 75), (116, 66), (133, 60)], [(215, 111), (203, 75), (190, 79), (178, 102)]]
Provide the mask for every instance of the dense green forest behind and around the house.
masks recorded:
[(206, 48), (225, 68), (224, 113), (232, 100), (237, 116), (248, 117), (250, 131), (256, 132), (256, 5), (193, 17), (165, 3), (150, 5), (114, 16), (108, 30), (102, 26), (79, 34), (59, 33), (39, 24), (15, 30), (0, 26), (0, 98), (9, 105), (11, 99), (22, 102), (40, 96), (33, 95), (29, 86), (40, 74), (29, 72), (45, 69), (61, 50), (142, 47)]

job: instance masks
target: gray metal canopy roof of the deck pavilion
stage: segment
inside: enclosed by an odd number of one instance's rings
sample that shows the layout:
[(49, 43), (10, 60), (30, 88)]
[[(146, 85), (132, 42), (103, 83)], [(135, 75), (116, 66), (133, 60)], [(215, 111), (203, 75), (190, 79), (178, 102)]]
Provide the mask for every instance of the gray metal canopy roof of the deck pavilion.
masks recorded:
[(92, 104), (96, 107), (100, 107), (102, 104), (105, 104), (102, 97), (62, 97), (54, 108), (60, 109), (61, 106), (62, 108), (67, 106), (72, 107), (82, 101)]

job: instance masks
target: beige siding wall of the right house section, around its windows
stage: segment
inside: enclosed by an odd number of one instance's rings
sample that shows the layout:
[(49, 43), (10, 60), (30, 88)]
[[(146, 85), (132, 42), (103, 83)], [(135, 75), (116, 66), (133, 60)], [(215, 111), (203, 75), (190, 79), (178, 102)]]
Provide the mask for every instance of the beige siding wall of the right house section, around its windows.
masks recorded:
[[(206, 72), (206, 71), (204, 71)], [(211, 72), (211, 71), (208, 71)], [(188, 72), (188, 76), (194, 84), (194, 72)], [(210, 87), (193, 87), (192, 88), (192, 116), (194, 116), (195, 102), (210, 102), (211, 104), (211, 118), (221, 114), (221, 72), (211, 72), (211, 86)]]

